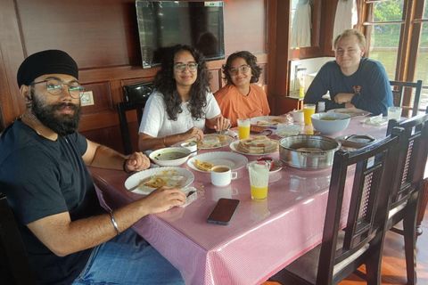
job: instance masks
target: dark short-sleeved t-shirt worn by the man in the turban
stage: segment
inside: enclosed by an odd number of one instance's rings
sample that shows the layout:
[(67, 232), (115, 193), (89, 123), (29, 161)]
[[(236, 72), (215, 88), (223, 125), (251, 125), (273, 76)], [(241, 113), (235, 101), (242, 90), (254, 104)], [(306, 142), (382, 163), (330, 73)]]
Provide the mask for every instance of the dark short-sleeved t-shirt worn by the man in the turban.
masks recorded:
[(71, 221), (103, 212), (82, 159), (86, 148), (78, 133), (53, 142), (20, 120), (0, 137), (0, 189), (12, 207), (38, 283), (72, 283), (92, 252), (56, 256), (26, 225), (64, 212)]

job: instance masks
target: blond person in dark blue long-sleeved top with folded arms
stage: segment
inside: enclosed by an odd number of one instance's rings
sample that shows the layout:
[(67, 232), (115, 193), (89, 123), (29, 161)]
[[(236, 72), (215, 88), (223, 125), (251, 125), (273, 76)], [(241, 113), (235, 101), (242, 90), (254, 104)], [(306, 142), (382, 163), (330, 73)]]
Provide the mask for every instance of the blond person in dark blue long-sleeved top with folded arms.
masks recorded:
[[(333, 40), (335, 61), (318, 71), (305, 95), (305, 103), (324, 101), (325, 109), (358, 108), (386, 116), (393, 105), (391, 85), (379, 61), (363, 58), (366, 38), (354, 28)], [(323, 95), (330, 92), (330, 100)]]

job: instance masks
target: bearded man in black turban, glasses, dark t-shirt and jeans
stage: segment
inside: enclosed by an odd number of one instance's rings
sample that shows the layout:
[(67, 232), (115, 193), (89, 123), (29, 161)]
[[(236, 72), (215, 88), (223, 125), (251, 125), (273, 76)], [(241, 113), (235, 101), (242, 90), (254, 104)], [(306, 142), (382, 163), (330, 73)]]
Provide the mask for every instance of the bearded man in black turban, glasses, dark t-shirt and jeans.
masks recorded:
[(17, 81), (27, 109), (0, 137), (0, 188), (37, 283), (183, 284), (177, 269), (128, 228), (182, 205), (184, 192), (161, 187), (105, 213), (86, 166), (141, 171), (149, 159), (141, 152), (125, 157), (77, 133), (84, 88), (68, 53), (30, 55)]

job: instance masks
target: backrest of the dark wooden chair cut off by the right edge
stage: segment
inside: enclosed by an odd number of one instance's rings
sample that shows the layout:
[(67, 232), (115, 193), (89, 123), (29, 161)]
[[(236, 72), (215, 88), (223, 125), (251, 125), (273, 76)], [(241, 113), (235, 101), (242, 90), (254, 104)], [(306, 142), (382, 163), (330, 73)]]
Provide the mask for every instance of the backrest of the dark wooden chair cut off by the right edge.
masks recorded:
[[(405, 139), (399, 145), (397, 173), (392, 175), (394, 183), (399, 184), (391, 196), (391, 208), (397, 208), (409, 198), (413, 191), (420, 188), (424, 179), (428, 148), (428, 114), (407, 118), (403, 121), (391, 119), (387, 134), (395, 126), (404, 128)], [(393, 224), (392, 224), (393, 225)]]

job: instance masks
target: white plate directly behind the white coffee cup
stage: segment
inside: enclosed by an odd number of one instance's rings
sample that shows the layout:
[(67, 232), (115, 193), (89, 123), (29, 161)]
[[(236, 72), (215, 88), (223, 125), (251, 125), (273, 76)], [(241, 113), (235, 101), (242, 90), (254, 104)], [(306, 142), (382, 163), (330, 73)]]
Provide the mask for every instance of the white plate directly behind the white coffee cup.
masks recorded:
[(248, 163), (248, 159), (241, 154), (230, 151), (214, 151), (202, 153), (197, 156), (194, 156), (192, 159), (187, 160), (187, 165), (194, 170), (207, 173), (207, 171), (202, 171), (194, 165), (194, 159), (198, 159), (205, 162), (210, 162), (216, 166), (227, 166), (230, 167), (233, 171), (245, 167)]

